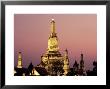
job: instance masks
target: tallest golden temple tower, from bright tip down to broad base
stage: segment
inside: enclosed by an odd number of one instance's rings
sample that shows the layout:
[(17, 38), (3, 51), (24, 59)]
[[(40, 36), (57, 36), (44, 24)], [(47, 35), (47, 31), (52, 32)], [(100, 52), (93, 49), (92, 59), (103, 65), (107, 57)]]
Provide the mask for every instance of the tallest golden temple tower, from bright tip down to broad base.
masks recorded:
[(41, 56), (40, 67), (44, 67), (51, 76), (61, 76), (68, 73), (68, 57), (62, 56), (59, 52), (58, 37), (55, 32), (55, 21), (51, 21), (51, 33), (48, 38), (48, 48), (45, 54)]

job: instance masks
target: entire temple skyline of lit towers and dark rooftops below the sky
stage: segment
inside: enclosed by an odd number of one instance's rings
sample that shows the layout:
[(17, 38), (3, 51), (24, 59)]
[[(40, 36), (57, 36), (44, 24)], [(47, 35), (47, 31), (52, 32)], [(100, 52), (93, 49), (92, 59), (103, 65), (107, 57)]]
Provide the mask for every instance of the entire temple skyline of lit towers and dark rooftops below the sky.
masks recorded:
[(22, 54), (18, 52), (18, 63), (14, 67), (15, 76), (85, 76), (97, 74), (97, 62), (94, 62), (93, 71), (85, 71), (83, 53), (80, 54), (80, 62), (75, 59), (73, 68), (70, 68), (68, 50), (62, 55), (58, 45), (58, 37), (54, 19), (50, 22), (50, 34), (46, 52), (41, 55), (41, 62), (33, 66), (32, 62), (27, 68), (23, 67)]

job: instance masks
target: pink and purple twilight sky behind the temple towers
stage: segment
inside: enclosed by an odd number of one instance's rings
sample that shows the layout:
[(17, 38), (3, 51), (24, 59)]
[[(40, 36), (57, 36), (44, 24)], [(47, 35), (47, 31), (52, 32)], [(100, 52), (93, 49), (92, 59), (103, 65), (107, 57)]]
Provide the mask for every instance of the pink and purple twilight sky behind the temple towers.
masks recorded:
[(84, 54), (85, 68), (92, 69), (97, 60), (97, 15), (96, 14), (15, 14), (14, 59), (17, 66), (18, 52), (22, 52), (23, 66), (30, 62), (40, 63), (46, 52), (50, 35), (50, 21), (56, 22), (56, 33), (62, 55), (68, 49), (70, 66), (79, 62)]

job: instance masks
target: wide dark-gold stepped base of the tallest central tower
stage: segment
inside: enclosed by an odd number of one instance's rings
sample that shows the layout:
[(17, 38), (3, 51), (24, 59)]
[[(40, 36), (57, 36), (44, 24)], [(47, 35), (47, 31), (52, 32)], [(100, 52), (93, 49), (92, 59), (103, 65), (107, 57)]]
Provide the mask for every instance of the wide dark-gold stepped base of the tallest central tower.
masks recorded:
[(64, 60), (59, 51), (48, 51), (41, 57), (43, 67), (49, 75), (62, 75)]

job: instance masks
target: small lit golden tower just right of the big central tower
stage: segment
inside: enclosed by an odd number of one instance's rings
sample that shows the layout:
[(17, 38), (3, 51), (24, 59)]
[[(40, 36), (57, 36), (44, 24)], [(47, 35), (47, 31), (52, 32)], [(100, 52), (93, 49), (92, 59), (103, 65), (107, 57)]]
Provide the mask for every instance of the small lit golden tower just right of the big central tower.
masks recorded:
[(65, 50), (63, 69), (64, 69), (64, 75), (66, 75), (70, 70), (69, 59), (68, 59), (68, 50), (67, 49)]

